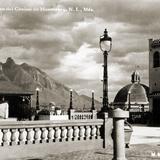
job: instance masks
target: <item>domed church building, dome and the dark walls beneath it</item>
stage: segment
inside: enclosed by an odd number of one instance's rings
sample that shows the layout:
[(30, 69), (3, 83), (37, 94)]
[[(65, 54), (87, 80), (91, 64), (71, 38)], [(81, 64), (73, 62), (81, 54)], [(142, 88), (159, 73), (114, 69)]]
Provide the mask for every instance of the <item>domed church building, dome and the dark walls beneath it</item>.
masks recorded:
[(140, 83), (140, 74), (134, 71), (131, 83), (121, 88), (115, 96), (113, 105), (130, 112), (130, 122), (145, 123), (149, 113), (149, 88)]

